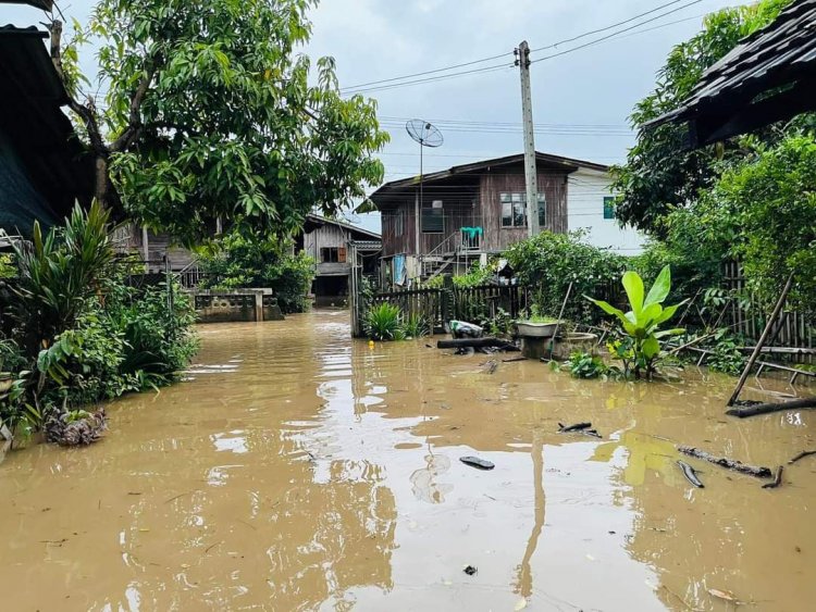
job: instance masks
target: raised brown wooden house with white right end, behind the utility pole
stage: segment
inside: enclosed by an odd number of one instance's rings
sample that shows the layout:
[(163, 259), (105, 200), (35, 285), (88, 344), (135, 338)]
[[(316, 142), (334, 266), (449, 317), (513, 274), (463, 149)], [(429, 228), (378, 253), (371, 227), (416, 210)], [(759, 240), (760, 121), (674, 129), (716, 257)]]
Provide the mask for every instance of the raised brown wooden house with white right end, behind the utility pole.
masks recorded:
[[(455, 166), (383, 185), (370, 200), (382, 214), (386, 284), (462, 270), (528, 237), (523, 155)], [(642, 237), (620, 228), (608, 166), (536, 153), (542, 229), (584, 229), (599, 247), (635, 253)], [(420, 196), (421, 191), (421, 196)]]

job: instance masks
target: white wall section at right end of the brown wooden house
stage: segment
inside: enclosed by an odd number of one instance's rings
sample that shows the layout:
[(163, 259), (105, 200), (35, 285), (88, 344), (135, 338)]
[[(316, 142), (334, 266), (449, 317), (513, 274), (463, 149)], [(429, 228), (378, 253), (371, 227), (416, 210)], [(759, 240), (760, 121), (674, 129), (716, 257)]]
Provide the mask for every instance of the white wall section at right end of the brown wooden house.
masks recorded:
[(569, 230), (586, 230), (584, 240), (595, 247), (610, 247), (622, 255), (643, 251), (645, 237), (632, 227), (622, 228), (614, 218), (604, 218), (604, 198), (613, 196), (611, 178), (605, 172), (580, 168), (569, 175), (567, 218)]

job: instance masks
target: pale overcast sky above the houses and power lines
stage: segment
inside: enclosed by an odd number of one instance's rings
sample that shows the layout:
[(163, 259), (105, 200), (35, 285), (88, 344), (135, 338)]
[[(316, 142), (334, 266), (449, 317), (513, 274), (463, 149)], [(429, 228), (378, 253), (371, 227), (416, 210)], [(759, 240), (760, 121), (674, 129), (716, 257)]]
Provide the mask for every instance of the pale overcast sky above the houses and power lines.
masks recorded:
[[(534, 63), (534, 121), (545, 124), (536, 134), (536, 149), (599, 163), (621, 161), (632, 142), (627, 117), (633, 104), (654, 87), (655, 73), (671, 47), (698, 32), (703, 14), (735, 3), (692, 2), (675, 2), (622, 25), (617, 29), (654, 20), (611, 40)], [(313, 36), (307, 52), (313, 59), (333, 55), (341, 86), (348, 88), (511, 53), (523, 39), (533, 49), (547, 47), (668, 3), (669, 0), (323, 0), (310, 15)], [(60, 2), (67, 16), (83, 22), (92, 4), (91, 0)], [(665, 14), (669, 11), (676, 12)], [(40, 21), (41, 12), (35, 9), (0, 5), (0, 23), (34, 25)], [(567, 51), (614, 32), (536, 51), (532, 59)], [(426, 171), (520, 153), (520, 127), (507, 125), (521, 121), (519, 74), (518, 68), (511, 67), (512, 59), (508, 54), (459, 68), (507, 64), (495, 72), (367, 93), (378, 100), (380, 116), (392, 134), (382, 158), (386, 180), (419, 171), (417, 146), (403, 127), (410, 117), (437, 122), (444, 133), (444, 146), (428, 151)], [(86, 58), (84, 64), (92, 67), (92, 58)], [(378, 222), (366, 220), (366, 225), (376, 227)]]

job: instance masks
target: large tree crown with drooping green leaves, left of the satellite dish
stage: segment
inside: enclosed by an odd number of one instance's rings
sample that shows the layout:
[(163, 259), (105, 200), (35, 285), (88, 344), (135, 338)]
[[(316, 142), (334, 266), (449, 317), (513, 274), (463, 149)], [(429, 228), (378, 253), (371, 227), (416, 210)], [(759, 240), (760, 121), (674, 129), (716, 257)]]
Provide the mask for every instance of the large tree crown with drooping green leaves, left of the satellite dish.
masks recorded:
[[(96, 197), (187, 241), (217, 218), (286, 232), (383, 177), (373, 101), (297, 50), (317, 0), (100, 0), (54, 63), (96, 158)], [(52, 24), (59, 35), (61, 24)], [(59, 39), (59, 36), (55, 38)], [(104, 103), (77, 49), (99, 43)]]

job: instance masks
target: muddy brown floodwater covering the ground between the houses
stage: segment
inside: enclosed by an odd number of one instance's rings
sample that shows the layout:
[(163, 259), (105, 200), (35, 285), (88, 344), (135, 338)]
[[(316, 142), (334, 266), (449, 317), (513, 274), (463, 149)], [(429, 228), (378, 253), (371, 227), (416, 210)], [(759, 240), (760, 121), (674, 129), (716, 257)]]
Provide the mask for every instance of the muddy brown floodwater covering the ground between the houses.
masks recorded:
[[(489, 374), (425, 340), (353, 341), (343, 312), (201, 335), (191, 379), (110, 405), (102, 442), (7, 455), (3, 610), (816, 605), (816, 457), (774, 490), (687, 458), (695, 489), (675, 463), (676, 444), (786, 463), (816, 414), (727, 419), (733, 379), (696, 370)], [(556, 433), (578, 421), (604, 439)]]

